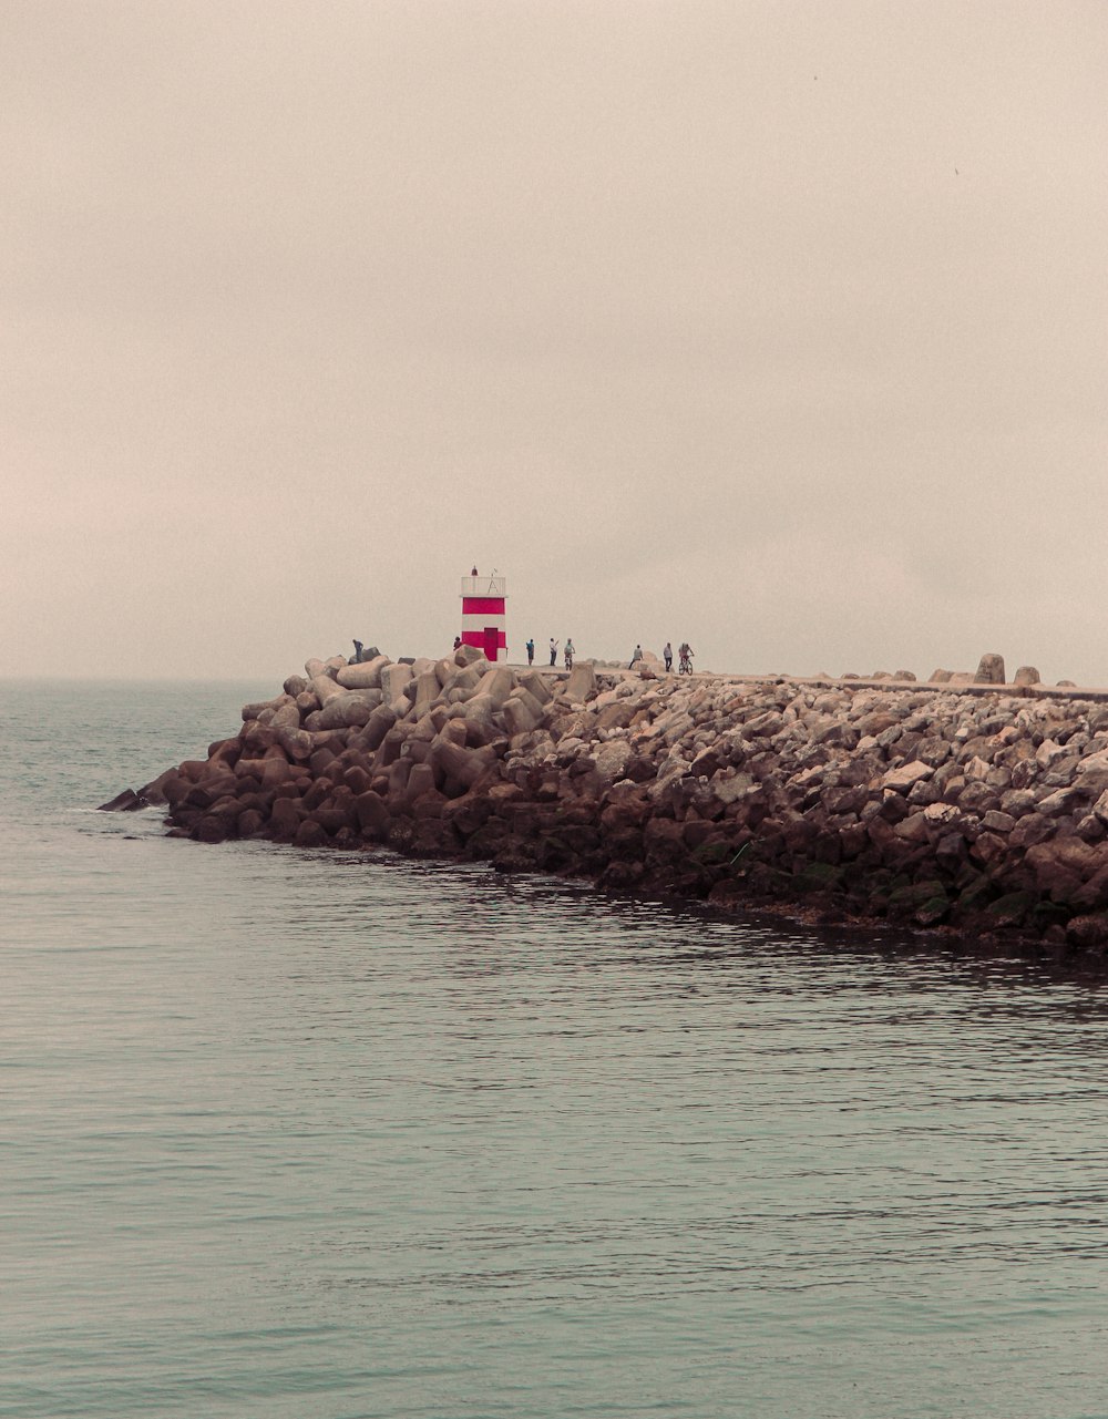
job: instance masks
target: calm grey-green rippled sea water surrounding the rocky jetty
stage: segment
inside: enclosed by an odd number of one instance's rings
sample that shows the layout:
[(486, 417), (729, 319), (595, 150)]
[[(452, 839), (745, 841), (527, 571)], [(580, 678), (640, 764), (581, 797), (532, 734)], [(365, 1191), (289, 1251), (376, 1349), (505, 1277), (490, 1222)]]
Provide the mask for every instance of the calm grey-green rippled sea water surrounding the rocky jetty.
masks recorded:
[(0, 692), (0, 1415), (1108, 1415), (1097, 981), (96, 812), (272, 692)]

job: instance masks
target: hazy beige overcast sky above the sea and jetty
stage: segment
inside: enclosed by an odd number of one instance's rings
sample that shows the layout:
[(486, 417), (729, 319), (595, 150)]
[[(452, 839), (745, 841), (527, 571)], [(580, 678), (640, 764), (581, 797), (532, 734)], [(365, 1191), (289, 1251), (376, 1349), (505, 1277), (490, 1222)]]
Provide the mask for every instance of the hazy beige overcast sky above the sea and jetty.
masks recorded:
[(9, 674), (1108, 684), (1101, 0), (0, 0)]

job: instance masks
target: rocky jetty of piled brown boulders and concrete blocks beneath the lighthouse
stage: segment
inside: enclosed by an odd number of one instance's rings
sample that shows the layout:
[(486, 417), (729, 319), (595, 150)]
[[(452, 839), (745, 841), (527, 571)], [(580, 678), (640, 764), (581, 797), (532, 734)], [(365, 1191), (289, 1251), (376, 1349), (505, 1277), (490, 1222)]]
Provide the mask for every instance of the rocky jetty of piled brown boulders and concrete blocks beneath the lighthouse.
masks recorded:
[(311, 660), (203, 759), (105, 807), (166, 806), (204, 843), (386, 844), (1099, 958), (1108, 704), (997, 673), (565, 674), (471, 647)]

